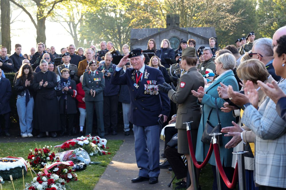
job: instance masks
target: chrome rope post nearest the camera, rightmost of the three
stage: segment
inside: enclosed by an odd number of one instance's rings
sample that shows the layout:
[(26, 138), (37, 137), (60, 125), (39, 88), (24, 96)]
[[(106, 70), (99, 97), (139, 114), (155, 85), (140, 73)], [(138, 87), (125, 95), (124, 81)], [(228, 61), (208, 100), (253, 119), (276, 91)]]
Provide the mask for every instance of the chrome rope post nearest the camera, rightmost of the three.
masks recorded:
[(245, 190), (246, 189), (244, 154), (247, 152), (248, 151), (233, 152), (233, 154), (237, 154), (239, 190)]

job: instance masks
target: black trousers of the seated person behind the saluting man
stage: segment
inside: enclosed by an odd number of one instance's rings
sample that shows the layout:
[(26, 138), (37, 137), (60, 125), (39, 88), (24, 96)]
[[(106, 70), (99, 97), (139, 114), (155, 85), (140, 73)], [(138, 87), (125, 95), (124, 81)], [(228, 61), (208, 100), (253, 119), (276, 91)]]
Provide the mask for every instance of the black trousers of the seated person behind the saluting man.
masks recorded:
[(177, 179), (182, 179), (187, 176), (187, 167), (181, 156), (184, 154), (178, 153), (178, 149), (167, 146), (164, 154), (172, 167)]

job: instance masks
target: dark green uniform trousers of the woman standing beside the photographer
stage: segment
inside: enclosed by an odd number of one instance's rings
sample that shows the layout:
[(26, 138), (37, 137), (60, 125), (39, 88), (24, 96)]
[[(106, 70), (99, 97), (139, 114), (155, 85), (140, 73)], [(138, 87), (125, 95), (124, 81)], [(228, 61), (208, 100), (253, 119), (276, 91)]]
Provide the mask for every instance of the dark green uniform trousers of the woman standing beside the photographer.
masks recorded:
[(93, 113), (96, 111), (97, 131), (99, 136), (104, 136), (103, 101), (86, 101), (86, 135), (92, 134)]

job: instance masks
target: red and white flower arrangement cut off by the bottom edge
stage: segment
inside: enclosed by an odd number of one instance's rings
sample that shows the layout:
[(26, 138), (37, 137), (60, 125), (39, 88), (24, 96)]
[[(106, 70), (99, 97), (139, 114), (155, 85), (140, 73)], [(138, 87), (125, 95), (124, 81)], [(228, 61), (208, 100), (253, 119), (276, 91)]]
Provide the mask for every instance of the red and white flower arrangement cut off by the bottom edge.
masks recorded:
[(31, 183), (26, 183), (25, 190), (66, 190), (65, 180), (57, 174), (39, 172)]

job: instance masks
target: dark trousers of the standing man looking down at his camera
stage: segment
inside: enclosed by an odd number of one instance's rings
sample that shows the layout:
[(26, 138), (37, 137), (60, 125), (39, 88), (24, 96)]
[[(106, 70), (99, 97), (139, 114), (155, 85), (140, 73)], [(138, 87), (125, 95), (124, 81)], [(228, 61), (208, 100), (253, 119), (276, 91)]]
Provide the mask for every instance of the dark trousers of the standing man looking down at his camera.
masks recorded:
[(117, 130), (118, 95), (103, 97), (104, 130)]

